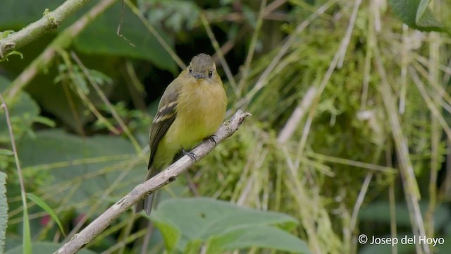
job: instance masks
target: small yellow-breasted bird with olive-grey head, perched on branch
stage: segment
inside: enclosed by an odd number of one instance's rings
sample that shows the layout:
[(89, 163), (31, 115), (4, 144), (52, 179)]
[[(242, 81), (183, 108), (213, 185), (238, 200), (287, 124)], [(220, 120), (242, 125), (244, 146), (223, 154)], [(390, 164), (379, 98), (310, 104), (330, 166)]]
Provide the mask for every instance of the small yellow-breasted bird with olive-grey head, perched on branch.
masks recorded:
[[(216, 65), (207, 54), (198, 54), (166, 87), (152, 122), (150, 158), (146, 181), (213, 135), (226, 114), (227, 96)], [(154, 193), (135, 205), (135, 212), (150, 214)]]

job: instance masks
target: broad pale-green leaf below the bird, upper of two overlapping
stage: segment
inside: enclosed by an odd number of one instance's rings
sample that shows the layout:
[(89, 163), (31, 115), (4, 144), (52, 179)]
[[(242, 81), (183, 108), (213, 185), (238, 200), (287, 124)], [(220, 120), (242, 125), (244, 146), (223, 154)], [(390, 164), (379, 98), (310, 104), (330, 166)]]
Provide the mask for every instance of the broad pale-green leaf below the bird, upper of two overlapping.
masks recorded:
[[(192, 241), (199, 241), (199, 239), (204, 243), (210, 241), (211, 238), (240, 241), (240, 234), (244, 237), (246, 234), (251, 234), (250, 231), (252, 229), (260, 229), (259, 226), (267, 226), (271, 229), (276, 229), (276, 226), (279, 226), (288, 230), (294, 229), (298, 223), (295, 218), (287, 214), (252, 210), (210, 198), (171, 199), (161, 202), (158, 209), (153, 212), (151, 219), (156, 224), (166, 222), (166, 224), (170, 223), (178, 227), (181, 236), (180, 241), (177, 243), (177, 249), (180, 251), (187, 250), (187, 246), (192, 244)], [(157, 227), (160, 230), (166, 230), (159, 226)], [(230, 233), (233, 230), (237, 230), (235, 234)], [(285, 232), (288, 234), (281, 229), (271, 232)], [(254, 231), (254, 233), (258, 234), (257, 231)], [(278, 236), (282, 235), (279, 234)], [(295, 238), (295, 236), (292, 237)], [(293, 244), (292, 246), (299, 247), (303, 242), (299, 239), (297, 240), (298, 245), (295, 244), (295, 241), (290, 241), (289, 243)], [(216, 242), (214, 243), (216, 244)], [(263, 242), (252, 242), (250, 239), (246, 242), (246, 246), (240, 246), (240, 243), (235, 242), (227, 244), (230, 248), (237, 246), (247, 248), (251, 247), (250, 244), (260, 243), (260, 247), (268, 247)], [(216, 248), (219, 245), (216, 244), (214, 246)], [(290, 245), (290, 250), (295, 249), (292, 246)], [(221, 246), (221, 248), (223, 247)], [(280, 246), (271, 245), (269, 248), (280, 248)]]

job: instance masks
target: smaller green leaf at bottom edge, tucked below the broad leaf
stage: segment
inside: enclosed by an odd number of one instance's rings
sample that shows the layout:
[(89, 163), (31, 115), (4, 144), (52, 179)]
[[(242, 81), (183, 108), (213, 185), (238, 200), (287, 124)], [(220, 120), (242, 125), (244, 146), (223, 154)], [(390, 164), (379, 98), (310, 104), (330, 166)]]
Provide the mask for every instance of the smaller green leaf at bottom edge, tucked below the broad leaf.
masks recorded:
[(206, 253), (222, 253), (259, 246), (292, 253), (311, 253), (307, 244), (286, 231), (273, 226), (240, 226), (230, 229), (221, 236), (212, 237)]

